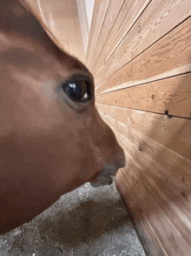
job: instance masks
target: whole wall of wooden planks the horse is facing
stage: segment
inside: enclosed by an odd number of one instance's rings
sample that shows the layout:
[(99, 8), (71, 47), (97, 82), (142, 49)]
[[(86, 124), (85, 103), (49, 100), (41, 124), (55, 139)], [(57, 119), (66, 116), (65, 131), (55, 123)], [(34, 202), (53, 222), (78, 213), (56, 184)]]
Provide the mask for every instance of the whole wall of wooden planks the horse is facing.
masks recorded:
[(115, 182), (147, 255), (188, 256), (190, 1), (95, 0), (86, 63), (126, 166)]

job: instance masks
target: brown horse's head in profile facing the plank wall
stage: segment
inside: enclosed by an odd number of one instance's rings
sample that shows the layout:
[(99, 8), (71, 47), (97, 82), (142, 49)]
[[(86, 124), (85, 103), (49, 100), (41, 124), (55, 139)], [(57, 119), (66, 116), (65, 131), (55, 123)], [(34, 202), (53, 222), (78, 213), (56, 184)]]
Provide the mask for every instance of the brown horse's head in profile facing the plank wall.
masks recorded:
[(1, 232), (79, 185), (111, 184), (124, 165), (92, 75), (57, 45), (23, 5), (0, 0)]

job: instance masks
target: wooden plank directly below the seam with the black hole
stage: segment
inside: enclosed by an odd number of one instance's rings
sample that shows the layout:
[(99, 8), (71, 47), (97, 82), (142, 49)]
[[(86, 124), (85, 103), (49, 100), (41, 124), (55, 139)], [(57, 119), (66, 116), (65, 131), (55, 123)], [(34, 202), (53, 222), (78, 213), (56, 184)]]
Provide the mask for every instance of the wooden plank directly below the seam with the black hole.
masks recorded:
[(109, 115), (130, 128), (165, 145), (169, 149), (191, 158), (191, 120), (186, 118), (168, 118), (167, 115), (106, 104), (96, 104), (98, 111)]

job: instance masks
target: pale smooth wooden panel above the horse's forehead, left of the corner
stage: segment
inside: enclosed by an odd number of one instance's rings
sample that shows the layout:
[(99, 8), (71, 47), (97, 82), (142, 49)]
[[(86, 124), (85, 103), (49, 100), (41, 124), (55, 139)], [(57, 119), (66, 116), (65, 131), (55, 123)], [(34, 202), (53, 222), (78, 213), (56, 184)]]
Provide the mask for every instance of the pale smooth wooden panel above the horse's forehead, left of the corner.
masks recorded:
[(76, 0), (22, 0), (41, 17), (64, 51), (85, 61)]

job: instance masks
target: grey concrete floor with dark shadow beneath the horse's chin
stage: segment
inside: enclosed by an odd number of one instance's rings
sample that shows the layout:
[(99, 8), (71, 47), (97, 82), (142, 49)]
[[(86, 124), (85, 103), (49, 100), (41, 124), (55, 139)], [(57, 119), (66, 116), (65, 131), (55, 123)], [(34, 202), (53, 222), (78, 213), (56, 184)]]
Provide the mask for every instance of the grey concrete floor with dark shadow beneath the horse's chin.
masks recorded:
[(89, 183), (0, 236), (1, 256), (145, 256), (115, 185)]

